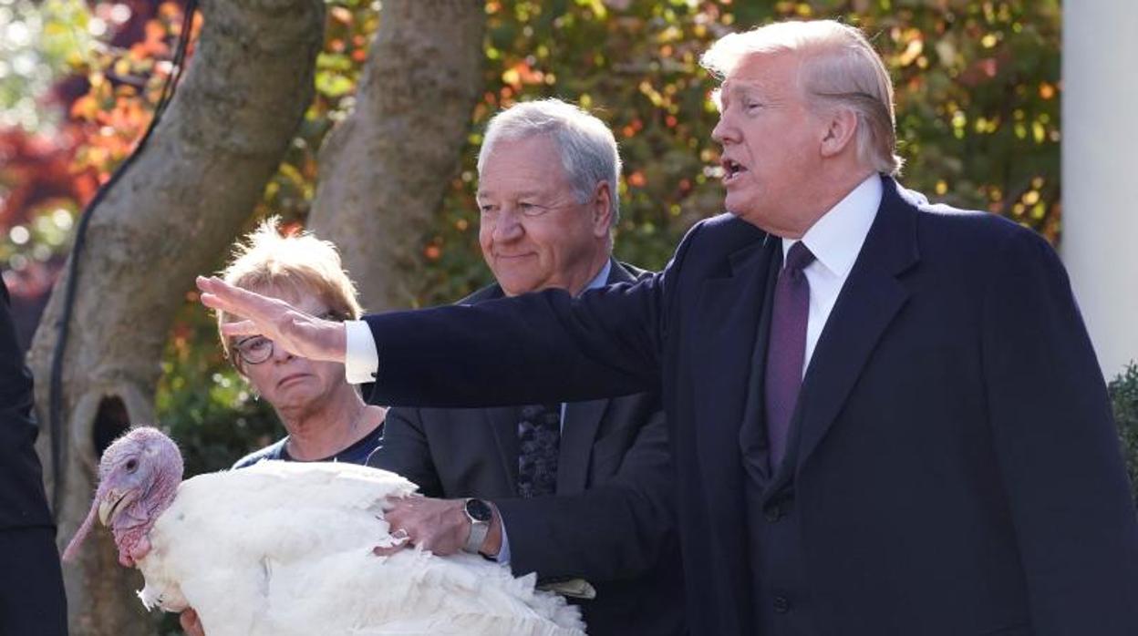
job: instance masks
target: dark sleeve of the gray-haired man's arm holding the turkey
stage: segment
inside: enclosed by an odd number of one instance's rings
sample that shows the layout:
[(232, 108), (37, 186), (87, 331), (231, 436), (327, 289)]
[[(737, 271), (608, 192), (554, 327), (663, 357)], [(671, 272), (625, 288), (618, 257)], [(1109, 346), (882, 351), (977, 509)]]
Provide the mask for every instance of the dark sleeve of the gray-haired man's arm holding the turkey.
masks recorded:
[(674, 539), (675, 486), (663, 413), (655, 410), (608, 481), (579, 495), (496, 499), (514, 575), (628, 579)]

